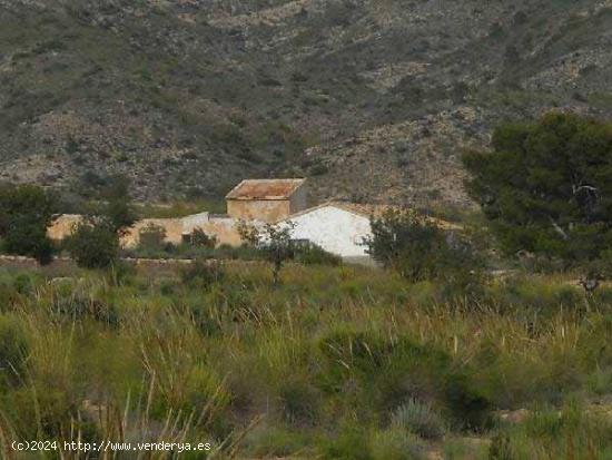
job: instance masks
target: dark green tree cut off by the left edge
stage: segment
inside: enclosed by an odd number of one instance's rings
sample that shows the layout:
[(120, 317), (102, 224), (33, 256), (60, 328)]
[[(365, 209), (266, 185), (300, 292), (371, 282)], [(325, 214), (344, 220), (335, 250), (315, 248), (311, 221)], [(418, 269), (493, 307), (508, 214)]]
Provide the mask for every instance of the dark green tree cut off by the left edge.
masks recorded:
[(56, 199), (34, 185), (0, 186), (0, 237), (10, 254), (34, 257), (48, 264), (55, 252), (47, 236), (53, 221)]

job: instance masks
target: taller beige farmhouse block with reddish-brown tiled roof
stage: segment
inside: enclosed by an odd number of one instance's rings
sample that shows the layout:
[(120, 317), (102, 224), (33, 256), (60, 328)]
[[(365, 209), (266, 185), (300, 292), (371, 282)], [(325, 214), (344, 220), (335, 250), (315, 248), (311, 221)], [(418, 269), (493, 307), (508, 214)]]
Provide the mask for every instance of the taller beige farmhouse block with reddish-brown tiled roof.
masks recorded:
[(241, 221), (274, 223), (307, 207), (306, 179), (243, 180), (226, 196), (227, 214)]

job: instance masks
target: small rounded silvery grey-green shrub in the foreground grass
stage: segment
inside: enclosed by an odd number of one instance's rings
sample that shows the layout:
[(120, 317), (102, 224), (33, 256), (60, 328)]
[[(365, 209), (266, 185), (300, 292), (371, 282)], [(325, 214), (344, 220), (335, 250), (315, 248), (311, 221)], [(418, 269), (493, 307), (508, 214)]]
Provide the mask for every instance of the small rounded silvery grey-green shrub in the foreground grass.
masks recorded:
[(445, 427), (430, 404), (411, 399), (393, 414), (393, 425), (408, 430), (424, 439), (442, 439)]

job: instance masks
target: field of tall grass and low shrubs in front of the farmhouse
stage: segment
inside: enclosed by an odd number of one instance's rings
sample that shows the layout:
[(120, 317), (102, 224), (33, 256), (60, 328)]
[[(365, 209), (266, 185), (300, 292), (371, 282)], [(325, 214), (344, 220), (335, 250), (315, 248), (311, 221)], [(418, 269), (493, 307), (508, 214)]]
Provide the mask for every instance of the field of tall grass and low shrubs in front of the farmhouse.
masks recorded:
[(258, 265), (207, 270), (0, 270), (2, 448), (79, 435), (211, 442), (217, 459), (612, 449), (609, 287), (586, 297), (517, 275), (465, 297), (352, 266), (287, 265), (277, 286)]

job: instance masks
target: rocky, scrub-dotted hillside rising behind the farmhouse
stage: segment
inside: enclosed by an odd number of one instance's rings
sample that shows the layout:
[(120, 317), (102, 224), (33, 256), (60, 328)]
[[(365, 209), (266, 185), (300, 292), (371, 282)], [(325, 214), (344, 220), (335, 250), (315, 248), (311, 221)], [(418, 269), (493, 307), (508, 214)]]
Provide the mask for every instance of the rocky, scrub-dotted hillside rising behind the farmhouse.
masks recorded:
[(466, 204), (503, 119), (612, 112), (612, 0), (0, 0), (0, 179)]

